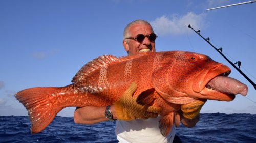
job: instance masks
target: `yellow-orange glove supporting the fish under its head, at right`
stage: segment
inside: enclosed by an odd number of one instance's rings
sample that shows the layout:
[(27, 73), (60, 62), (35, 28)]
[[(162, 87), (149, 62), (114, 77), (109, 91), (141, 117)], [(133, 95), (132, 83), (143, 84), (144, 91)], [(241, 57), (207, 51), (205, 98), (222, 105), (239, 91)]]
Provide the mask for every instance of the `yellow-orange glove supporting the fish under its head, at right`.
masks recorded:
[(188, 119), (193, 119), (199, 116), (200, 110), (207, 100), (196, 100), (191, 103), (181, 105), (183, 116)]

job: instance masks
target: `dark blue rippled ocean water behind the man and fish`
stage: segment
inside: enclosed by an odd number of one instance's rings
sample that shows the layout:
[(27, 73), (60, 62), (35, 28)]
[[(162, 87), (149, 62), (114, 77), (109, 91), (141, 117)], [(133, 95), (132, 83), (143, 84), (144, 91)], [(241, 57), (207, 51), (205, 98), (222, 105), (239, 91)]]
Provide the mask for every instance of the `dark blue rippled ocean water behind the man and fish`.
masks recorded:
[[(256, 142), (256, 115), (201, 114), (194, 128), (182, 124), (182, 142)], [(0, 142), (117, 142), (115, 122), (75, 124), (72, 117), (55, 117), (42, 132), (32, 135), (28, 116), (0, 116)]]

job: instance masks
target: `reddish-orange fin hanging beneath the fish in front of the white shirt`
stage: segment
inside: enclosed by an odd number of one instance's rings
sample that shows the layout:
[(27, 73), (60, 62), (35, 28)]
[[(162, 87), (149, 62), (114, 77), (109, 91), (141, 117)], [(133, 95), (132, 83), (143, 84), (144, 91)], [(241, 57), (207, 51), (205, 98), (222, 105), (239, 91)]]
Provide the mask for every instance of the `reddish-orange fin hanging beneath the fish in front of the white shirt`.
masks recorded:
[(159, 129), (163, 136), (167, 136), (168, 133), (171, 131), (174, 121), (174, 112), (170, 112), (168, 115), (163, 116), (159, 120)]

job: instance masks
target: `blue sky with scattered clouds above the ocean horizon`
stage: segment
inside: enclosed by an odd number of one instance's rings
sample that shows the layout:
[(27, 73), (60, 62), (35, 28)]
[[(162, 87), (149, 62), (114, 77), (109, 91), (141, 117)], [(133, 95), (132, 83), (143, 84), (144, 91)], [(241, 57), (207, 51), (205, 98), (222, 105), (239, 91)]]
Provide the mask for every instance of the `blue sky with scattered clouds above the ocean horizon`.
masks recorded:
[[(76, 72), (104, 54), (125, 56), (123, 28), (144, 19), (158, 35), (157, 51), (185, 50), (228, 65), (230, 77), (248, 85), (246, 97), (207, 101), (202, 113), (256, 113), (256, 90), (195, 32), (200, 29), (256, 82), (256, 3), (205, 11), (244, 1), (0, 1), (0, 116), (27, 115), (15, 98), (31, 87), (61, 87)], [(59, 116), (73, 116), (74, 107)]]

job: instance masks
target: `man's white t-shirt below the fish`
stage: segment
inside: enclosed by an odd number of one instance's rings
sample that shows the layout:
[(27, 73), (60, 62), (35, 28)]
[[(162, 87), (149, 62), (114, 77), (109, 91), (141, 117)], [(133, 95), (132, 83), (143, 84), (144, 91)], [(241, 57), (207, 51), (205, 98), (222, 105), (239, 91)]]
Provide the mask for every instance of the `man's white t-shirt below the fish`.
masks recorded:
[(176, 134), (176, 127), (173, 125), (169, 134), (164, 137), (159, 129), (157, 118), (149, 118), (147, 120), (132, 120), (132, 121), (116, 121), (115, 133), (117, 140), (121, 143), (148, 143), (148, 142), (173, 142)]

